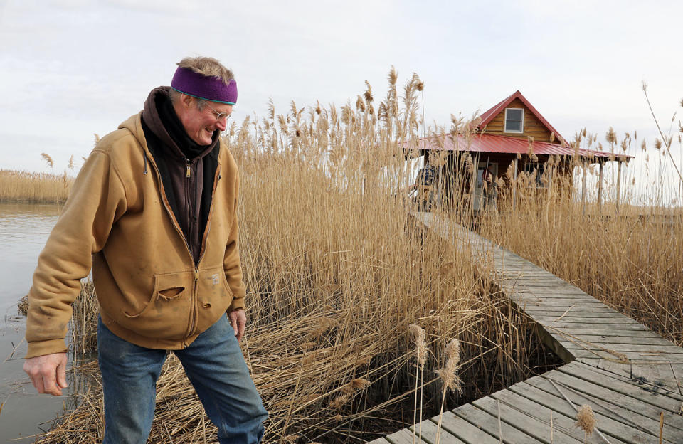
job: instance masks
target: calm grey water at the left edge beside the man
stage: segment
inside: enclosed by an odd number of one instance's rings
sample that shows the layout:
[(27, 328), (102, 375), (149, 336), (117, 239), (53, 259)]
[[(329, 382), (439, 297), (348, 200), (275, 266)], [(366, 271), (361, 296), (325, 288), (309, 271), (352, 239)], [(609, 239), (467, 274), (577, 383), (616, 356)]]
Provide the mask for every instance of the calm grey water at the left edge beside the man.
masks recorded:
[(16, 309), (58, 215), (54, 205), (0, 203), (0, 444), (31, 443), (68, 401), (39, 395), (23, 373), (26, 319)]

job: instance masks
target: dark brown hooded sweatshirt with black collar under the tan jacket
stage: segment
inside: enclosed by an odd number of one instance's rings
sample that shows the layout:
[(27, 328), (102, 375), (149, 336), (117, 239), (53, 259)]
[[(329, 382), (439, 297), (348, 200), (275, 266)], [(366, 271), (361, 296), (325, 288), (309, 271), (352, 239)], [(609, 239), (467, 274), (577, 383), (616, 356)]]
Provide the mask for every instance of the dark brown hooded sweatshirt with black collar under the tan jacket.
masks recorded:
[(160, 86), (149, 93), (142, 111), (142, 129), (159, 168), (164, 192), (197, 264), (211, 208), (220, 131), (216, 129), (208, 145), (190, 139), (173, 108), (169, 89)]

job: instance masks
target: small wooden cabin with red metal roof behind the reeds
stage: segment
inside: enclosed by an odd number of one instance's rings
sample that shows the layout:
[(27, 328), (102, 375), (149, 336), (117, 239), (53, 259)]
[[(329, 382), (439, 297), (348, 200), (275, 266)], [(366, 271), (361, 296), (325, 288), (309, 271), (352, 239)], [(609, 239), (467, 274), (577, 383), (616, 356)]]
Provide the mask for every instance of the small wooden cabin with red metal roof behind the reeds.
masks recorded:
[[(571, 178), (576, 165), (583, 167), (581, 199), (585, 199), (586, 167), (599, 164), (600, 202), (604, 164), (618, 162), (620, 177), (621, 164), (632, 157), (583, 149), (566, 142), (519, 90), (492, 106), (470, 125), (470, 131), (423, 137), (416, 143), (407, 144), (406, 148), (413, 156), (424, 156), (425, 166), (438, 169), (440, 176), (447, 178), (442, 183), (447, 196), (452, 198), (455, 188), (460, 187), (463, 195), (472, 199), (475, 211), (487, 204), (496, 205), (488, 189), (509, 184), (519, 174), (528, 176), (529, 186), (542, 189), (553, 186), (554, 181), (562, 183), (557, 180), (560, 176)], [(465, 159), (471, 159), (467, 168), (462, 167)]]

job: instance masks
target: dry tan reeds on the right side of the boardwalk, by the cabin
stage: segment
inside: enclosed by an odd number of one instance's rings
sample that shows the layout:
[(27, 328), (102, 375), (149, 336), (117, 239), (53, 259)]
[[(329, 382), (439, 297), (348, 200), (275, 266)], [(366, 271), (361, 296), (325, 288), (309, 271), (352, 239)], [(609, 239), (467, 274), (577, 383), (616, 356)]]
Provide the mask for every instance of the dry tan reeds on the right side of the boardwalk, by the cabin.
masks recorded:
[[(613, 175), (605, 176), (598, 205), (597, 190), (589, 188), (582, 203), (581, 186), (569, 176), (556, 174), (539, 189), (529, 186), (534, 178), (521, 174), (501, 183), (500, 211), (482, 213), (480, 231), (683, 345), (683, 194), (662, 180), (662, 162), (671, 161), (661, 144), (642, 149), (648, 160), (640, 171), (625, 170), (620, 199)], [(574, 177), (581, 177), (582, 166), (573, 168)], [(645, 196), (636, 181), (648, 184)]]

